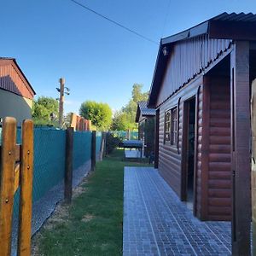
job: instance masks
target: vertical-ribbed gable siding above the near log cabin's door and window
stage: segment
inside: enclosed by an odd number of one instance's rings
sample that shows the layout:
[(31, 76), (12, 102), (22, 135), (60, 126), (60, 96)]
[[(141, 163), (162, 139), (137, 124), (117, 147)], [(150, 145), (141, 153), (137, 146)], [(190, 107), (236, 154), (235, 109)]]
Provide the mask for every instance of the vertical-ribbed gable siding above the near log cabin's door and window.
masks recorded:
[(228, 54), (229, 39), (213, 39), (207, 35), (180, 41), (170, 49), (166, 73), (163, 77), (156, 106), (195, 79), (202, 70), (212, 67)]

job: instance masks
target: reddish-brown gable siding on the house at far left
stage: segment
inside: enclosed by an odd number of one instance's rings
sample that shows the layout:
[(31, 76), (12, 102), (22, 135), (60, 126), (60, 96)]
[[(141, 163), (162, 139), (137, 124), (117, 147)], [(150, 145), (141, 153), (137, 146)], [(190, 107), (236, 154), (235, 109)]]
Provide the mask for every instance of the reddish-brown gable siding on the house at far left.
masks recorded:
[(34, 93), (13, 61), (0, 60), (0, 89), (33, 99)]

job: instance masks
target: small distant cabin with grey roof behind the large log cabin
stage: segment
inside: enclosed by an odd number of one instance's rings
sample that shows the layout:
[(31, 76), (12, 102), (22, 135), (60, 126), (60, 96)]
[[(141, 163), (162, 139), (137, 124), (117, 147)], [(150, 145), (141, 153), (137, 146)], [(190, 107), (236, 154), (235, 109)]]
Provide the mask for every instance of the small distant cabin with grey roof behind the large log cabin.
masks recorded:
[(154, 116), (155, 109), (148, 108), (147, 102), (137, 103), (135, 121), (138, 123), (138, 139), (143, 140), (146, 157), (154, 154)]

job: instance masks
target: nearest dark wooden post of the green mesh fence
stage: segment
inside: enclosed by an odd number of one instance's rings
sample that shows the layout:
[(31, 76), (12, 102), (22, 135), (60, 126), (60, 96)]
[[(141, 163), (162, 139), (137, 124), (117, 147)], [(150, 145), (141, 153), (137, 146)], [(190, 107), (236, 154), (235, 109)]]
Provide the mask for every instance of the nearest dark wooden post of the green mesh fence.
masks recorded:
[(73, 180), (73, 127), (66, 130), (66, 162), (65, 162), (65, 189), (64, 199), (67, 203), (72, 200)]

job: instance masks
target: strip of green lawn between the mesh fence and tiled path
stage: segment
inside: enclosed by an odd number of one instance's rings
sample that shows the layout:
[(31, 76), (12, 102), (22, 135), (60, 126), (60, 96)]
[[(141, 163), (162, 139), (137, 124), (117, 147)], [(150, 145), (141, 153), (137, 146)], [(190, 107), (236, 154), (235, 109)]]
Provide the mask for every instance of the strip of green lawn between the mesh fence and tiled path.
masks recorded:
[(98, 162), (71, 206), (58, 207), (34, 238), (38, 255), (122, 255), (124, 166), (147, 166), (122, 161), (123, 154)]

